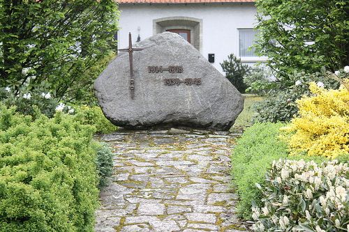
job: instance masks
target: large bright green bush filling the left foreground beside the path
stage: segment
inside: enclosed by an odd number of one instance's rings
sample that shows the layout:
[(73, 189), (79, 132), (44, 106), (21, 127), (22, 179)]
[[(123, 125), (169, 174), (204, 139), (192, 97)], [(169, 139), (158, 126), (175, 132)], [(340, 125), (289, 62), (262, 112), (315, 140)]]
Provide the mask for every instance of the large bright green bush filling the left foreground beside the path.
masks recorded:
[(0, 107), (0, 231), (93, 231), (94, 128)]

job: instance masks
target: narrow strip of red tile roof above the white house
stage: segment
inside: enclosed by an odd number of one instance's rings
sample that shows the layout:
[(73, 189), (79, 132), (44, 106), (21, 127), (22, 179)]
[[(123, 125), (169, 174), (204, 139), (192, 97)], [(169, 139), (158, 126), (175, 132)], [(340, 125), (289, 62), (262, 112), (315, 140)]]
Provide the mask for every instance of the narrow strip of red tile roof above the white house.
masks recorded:
[(117, 0), (118, 3), (244, 3), (255, 2), (255, 0)]

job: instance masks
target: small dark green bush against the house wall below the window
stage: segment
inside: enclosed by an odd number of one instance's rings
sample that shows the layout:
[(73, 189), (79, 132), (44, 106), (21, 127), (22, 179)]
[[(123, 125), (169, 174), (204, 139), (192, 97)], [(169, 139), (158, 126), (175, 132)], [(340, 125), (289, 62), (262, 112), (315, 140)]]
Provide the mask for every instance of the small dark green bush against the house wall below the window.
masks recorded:
[(221, 63), (225, 77), (229, 79), (233, 86), (237, 88), (240, 93), (245, 93), (248, 86), (244, 83), (244, 76), (250, 71), (248, 65), (244, 65), (241, 59), (238, 59), (234, 54), (228, 56), (228, 61)]

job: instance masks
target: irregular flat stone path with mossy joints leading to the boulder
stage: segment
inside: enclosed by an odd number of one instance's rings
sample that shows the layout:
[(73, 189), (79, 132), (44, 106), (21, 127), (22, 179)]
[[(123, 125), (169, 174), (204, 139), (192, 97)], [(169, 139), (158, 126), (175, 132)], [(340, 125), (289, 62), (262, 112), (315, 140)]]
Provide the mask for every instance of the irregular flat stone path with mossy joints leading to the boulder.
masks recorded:
[[(170, 131), (171, 132), (171, 131)], [(96, 231), (245, 230), (230, 189), (227, 132), (118, 132), (100, 137), (114, 150), (114, 175), (101, 191)]]

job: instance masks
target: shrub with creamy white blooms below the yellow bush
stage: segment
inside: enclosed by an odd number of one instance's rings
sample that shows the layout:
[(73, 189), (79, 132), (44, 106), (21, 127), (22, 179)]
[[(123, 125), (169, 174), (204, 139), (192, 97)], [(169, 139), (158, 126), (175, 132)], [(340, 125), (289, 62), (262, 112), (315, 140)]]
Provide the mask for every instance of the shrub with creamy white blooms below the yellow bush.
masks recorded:
[(253, 207), (254, 231), (349, 231), (349, 168), (336, 161), (273, 162), (262, 208)]

